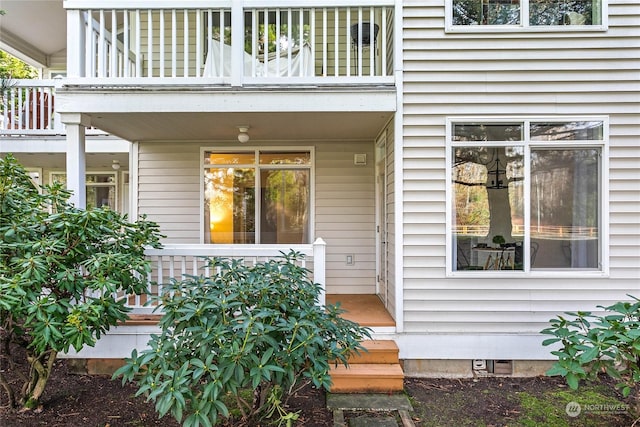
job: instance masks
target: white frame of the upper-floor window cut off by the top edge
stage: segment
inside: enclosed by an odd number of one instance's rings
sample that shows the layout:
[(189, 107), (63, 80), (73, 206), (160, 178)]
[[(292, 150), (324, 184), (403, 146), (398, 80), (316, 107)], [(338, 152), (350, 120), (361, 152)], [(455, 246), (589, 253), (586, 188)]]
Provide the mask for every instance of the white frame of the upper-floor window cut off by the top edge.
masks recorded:
[(555, 32), (602, 32), (609, 28), (609, 0), (601, 0), (601, 23), (596, 25), (529, 25), (529, 1), (520, 0), (520, 24), (517, 25), (453, 25), (453, 2), (445, 0), (446, 33), (555, 33)]

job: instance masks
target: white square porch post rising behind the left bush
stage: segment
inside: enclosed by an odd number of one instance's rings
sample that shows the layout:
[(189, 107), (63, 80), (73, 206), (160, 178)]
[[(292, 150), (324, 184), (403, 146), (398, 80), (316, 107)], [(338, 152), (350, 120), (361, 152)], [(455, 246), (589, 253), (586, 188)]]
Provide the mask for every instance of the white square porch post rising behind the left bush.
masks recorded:
[(69, 202), (75, 207), (87, 207), (85, 128), (90, 120), (82, 114), (63, 114), (67, 127), (67, 189), (72, 191)]

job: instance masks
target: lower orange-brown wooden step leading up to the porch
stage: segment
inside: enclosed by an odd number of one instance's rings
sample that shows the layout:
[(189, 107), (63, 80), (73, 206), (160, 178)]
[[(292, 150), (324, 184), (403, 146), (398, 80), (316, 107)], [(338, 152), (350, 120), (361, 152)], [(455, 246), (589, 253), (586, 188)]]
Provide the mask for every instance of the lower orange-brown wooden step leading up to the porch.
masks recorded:
[(357, 363), (332, 366), (331, 393), (393, 393), (404, 388), (404, 373), (398, 363)]

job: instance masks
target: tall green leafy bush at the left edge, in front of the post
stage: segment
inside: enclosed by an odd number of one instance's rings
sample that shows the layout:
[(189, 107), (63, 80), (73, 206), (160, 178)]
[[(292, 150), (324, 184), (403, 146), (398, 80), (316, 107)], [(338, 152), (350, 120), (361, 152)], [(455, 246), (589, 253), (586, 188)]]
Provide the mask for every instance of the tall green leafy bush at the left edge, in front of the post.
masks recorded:
[(68, 197), (60, 186), (40, 194), (13, 156), (0, 159), (0, 384), (12, 407), (39, 404), (59, 352), (93, 346), (127, 318), (117, 295), (146, 292), (144, 247), (159, 246), (154, 223)]

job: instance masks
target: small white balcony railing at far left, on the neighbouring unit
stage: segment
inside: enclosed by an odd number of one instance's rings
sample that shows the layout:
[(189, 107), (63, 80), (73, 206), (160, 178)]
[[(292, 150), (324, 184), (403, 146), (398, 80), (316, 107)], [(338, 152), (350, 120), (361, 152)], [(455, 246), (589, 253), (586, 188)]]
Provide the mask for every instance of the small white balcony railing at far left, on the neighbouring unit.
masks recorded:
[(3, 80), (0, 88), (3, 134), (52, 134), (62, 130), (54, 115), (54, 80)]

